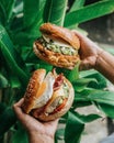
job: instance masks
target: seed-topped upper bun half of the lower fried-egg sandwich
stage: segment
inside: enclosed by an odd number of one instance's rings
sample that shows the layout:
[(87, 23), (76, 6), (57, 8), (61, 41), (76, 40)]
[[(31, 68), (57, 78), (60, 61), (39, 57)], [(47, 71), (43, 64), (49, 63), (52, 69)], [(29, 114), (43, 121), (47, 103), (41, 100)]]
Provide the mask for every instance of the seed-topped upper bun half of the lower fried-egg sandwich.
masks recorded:
[(37, 90), (45, 77), (46, 70), (45, 69), (37, 69), (33, 73), (30, 82), (27, 85), (25, 95), (24, 95), (24, 102), (22, 109), (25, 113), (30, 113), (30, 111), (34, 108), (34, 101), (37, 98)]

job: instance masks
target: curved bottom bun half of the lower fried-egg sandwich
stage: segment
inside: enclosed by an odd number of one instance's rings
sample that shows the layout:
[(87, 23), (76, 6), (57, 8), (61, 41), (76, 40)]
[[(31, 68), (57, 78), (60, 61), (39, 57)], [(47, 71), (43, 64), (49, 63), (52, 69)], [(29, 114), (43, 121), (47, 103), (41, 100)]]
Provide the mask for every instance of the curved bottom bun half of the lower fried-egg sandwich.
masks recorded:
[(72, 85), (66, 78), (65, 78), (65, 80), (69, 86), (69, 97), (68, 97), (66, 106), (60, 111), (49, 114), (49, 116), (45, 114), (43, 111), (39, 116), (37, 116), (37, 109), (35, 109), (33, 112), (33, 117), (35, 117), (36, 119), (38, 119), (41, 121), (52, 121), (57, 118), (60, 118), (70, 109), (70, 107), (73, 102), (75, 91), (73, 91)]

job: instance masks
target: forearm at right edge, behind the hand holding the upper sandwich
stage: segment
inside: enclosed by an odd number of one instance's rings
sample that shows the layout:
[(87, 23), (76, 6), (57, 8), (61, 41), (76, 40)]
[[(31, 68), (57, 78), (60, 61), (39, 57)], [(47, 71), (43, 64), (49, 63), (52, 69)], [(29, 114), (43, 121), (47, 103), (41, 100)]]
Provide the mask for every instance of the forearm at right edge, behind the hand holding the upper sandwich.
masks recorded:
[(114, 84), (114, 56), (105, 51), (100, 51), (95, 67), (98, 72), (104, 75), (111, 82)]

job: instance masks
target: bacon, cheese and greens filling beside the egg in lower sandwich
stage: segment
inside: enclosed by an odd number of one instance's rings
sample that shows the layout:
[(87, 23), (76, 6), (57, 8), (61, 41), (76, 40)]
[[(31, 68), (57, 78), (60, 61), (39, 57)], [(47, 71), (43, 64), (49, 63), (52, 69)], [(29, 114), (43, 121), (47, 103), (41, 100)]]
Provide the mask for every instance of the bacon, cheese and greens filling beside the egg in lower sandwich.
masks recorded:
[(47, 106), (45, 106), (44, 110), (47, 116), (60, 111), (66, 106), (69, 96), (69, 87), (64, 80), (62, 75), (56, 78), (53, 89), (52, 99), (48, 101)]

